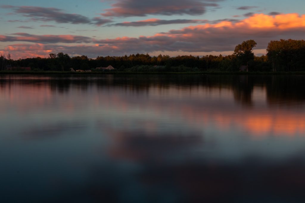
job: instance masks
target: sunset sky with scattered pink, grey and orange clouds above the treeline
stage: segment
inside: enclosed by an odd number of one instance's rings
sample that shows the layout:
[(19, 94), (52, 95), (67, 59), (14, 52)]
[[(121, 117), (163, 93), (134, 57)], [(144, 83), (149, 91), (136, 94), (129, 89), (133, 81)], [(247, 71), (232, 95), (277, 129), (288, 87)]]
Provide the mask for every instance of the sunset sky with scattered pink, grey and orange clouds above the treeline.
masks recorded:
[(10, 0), (0, 3), (0, 54), (232, 54), (253, 39), (305, 40), (304, 0)]

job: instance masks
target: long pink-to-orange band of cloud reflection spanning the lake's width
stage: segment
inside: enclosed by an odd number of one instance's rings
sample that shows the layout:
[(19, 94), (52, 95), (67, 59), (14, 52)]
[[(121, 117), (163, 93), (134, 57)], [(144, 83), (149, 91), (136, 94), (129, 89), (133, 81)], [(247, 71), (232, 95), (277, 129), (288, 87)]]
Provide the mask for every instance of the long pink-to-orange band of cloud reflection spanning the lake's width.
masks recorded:
[[(255, 89), (255, 100), (243, 106), (234, 100), (230, 87), (181, 88), (177, 86), (150, 86), (143, 92), (120, 88), (92, 88), (90, 94), (77, 87), (68, 86), (69, 94), (51, 91), (48, 83), (37, 85), (9, 83), (2, 87), (0, 110), (13, 106), (19, 112), (34, 111), (37, 108), (63, 112), (67, 115), (77, 110), (84, 117), (91, 111), (103, 115), (109, 111), (119, 121), (134, 122), (143, 120), (141, 126), (155, 131), (162, 118), (164, 124), (172, 123), (189, 129), (215, 129), (222, 133), (239, 132), (253, 137), (264, 136), (301, 136), (305, 134), (305, 117), (302, 105), (288, 104), (285, 108), (268, 105), (266, 89)], [(81, 99), (80, 99), (81, 98)], [(251, 99), (251, 97), (250, 97)], [(87, 115), (88, 114), (88, 115)], [(99, 119), (97, 117), (96, 119)], [(122, 123), (124, 123), (122, 122)], [(165, 125), (166, 126), (166, 125)]]

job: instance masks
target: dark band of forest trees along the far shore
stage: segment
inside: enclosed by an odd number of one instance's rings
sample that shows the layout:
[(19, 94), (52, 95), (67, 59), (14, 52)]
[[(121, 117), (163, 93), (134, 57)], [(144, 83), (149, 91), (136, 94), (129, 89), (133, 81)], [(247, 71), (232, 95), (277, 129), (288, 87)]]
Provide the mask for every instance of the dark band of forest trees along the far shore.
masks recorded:
[[(96, 70), (96, 67), (115, 68), (123, 72), (238, 72), (240, 67), (247, 67), (249, 72), (300, 72), (305, 71), (305, 41), (279, 40), (270, 41), (267, 55), (255, 56), (254, 40), (243, 41), (235, 47), (231, 55), (206, 56), (150, 56), (149, 54), (130, 54), (129, 56), (97, 56), (95, 59), (85, 55), (70, 57), (64, 53), (52, 53), (48, 58), (25, 58), (13, 60), (10, 54), (1, 55), (2, 71), (22, 70), (30, 67), (31, 71), (70, 71)], [(244, 70), (246, 71), (246, 70)]]

